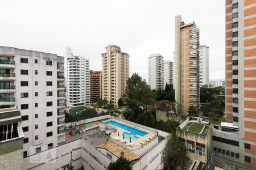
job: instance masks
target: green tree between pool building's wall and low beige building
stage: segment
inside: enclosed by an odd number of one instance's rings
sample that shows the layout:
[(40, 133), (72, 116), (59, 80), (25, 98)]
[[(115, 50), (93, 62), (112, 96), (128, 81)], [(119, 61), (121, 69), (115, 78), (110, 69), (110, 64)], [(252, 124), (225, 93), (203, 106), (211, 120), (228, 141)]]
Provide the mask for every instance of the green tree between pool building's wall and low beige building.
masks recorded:
[(164, 169), (184, 168), (188, 162), (187, 148), (177, 136), (175, 131), (171, 133), (167, 142), (167, 155), (164, 162)]

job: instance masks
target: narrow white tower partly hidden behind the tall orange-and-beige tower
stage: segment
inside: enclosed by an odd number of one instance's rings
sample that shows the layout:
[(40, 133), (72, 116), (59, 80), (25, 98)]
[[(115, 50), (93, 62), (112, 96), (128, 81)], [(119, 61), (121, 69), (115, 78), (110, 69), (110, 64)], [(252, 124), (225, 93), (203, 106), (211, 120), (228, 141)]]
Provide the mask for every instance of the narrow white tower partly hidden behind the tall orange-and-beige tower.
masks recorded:
[(200, 45), (200, 86), (209, 87), (209, 46)]

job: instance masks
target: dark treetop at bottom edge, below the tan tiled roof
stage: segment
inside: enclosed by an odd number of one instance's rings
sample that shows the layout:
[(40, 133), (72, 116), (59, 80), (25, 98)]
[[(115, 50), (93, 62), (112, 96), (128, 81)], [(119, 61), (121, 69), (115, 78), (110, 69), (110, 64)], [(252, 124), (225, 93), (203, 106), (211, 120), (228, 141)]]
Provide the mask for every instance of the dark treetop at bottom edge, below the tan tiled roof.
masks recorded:
[(131, 163), (126, 159), (120, 156), (116, 162), (112, 162), (108, 166), (109, 170), (131, 170)]

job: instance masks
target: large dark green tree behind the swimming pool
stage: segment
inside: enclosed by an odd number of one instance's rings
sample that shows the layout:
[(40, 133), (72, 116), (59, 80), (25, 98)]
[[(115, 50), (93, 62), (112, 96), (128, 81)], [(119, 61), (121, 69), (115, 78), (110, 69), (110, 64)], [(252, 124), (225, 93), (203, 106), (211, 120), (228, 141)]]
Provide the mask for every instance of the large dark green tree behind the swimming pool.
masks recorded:
[(127, 120), (135, 122), (139, 114), (146, 112), (151, 105), (155, 104), (155, 97), (156, 95), (151, 91), (146, 80), (142, 80), (141, 76), (134, 73), (127, 80), (126, 92), (123, 95), (123, 99), (131, 111), (129, 116), (126, 115)]

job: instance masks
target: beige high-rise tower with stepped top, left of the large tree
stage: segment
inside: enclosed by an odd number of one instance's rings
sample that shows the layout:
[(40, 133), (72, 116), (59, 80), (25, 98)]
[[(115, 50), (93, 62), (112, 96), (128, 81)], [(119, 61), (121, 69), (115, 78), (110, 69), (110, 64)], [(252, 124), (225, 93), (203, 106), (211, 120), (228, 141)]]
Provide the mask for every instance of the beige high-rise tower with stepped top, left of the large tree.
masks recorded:
[(116, 45), (106, 46), (102, 53), (102, 99), (118, 107), (118, 100), (126, 90), (129, 78), (129, 54), (123, 53)]

